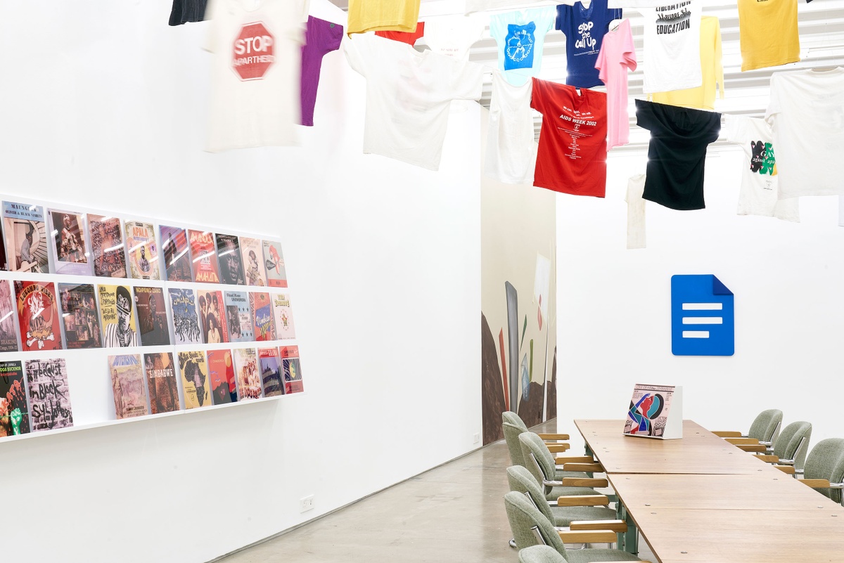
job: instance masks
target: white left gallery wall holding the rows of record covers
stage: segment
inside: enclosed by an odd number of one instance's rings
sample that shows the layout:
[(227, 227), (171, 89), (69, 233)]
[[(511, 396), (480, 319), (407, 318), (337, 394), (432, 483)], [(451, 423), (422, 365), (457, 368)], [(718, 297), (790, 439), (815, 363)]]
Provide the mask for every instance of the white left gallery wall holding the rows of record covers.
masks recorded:
[(439, 173), (364, 155), (334, 51), (301, 147), (204, 153), (206, 24), (170, 5), (0, 3), (0, 194), (281, 239), (305, 393), (0, 442), (7, 560), (208, 561), (479, 446), (479, 107)]

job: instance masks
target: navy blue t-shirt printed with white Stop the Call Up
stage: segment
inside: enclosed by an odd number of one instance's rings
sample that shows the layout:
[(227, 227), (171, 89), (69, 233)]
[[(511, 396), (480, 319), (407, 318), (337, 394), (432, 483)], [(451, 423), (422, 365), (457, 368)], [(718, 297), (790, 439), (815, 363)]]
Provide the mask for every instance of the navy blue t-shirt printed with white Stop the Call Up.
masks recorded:
[(555, 28), (565, 34), (566, 84), (579, 88), (602, 84), (595, 63), (609, 22), (619, 18), (621, 10), (608, 9), (607, 0), (592, 0), (588, 8), (582, 3), (557, 6)]

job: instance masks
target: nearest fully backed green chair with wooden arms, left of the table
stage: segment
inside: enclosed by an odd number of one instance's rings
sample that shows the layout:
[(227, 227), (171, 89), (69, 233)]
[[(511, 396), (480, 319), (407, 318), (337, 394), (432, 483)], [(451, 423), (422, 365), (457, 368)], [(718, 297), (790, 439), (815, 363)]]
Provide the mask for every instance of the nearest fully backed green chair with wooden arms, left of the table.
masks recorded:
[[(547, 545), (553, 548), (567, 563), (589, 563), (591, 561), (639, 561), (636, 555), (620, 550), (566, 550), (565, 543), (613, 542), (615, 534), (609, 531), (561, 531), (544, 517), (527, 496), (510, 491), (504, 496), (507, 520), (517, 549), (524, 550), (532, 545)], [(565, 543), (564, 543), (565, 542)]]

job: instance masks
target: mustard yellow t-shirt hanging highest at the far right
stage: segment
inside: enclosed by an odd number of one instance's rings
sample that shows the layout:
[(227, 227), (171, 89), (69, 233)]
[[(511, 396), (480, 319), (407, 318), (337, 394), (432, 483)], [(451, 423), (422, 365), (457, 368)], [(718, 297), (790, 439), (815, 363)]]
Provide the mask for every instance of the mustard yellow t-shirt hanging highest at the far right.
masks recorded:
[(797, 0), (738, 0), (738, 44), (743, 71), (798, 62)]

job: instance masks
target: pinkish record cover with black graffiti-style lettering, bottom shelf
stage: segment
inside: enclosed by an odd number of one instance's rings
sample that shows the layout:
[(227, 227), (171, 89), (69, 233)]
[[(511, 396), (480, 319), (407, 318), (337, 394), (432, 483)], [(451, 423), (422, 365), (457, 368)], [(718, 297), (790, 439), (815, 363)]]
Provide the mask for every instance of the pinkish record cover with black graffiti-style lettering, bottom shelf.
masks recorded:
[(30, 391), (32, 432), (73, 426), (68, 368), (63, 357), (27, 360), (26, 386)]

